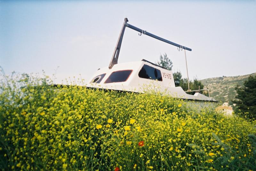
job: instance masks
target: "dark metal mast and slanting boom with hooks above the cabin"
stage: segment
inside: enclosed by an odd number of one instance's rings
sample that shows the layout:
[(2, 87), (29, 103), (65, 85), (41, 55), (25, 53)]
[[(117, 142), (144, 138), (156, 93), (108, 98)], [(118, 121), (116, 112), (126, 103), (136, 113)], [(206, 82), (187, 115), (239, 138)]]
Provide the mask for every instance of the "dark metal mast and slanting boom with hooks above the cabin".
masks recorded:
[[(131, 29), (133, 29), (133, 30), (135, 30), (135, 31), (138, 31), (138, 32), (140, 32), (140, 33), (142, 33), (142, 34), (146, 34), (146, 35), (148, 35), (148, 36), (150, 36), (150, 37), (153, 37), (153, 38), (155, 38), (155, 39), (157, 39), (157, 40), (164, 41), (165, 43), (169, 43), (169, 44), (171, 44), (171, 45), (173, 45), (173, 46), (177, 46), (177, 47), (179, 47), (179, 48), (182, 48), (182, 49), (185, 49), (185, 50), (189, 50), (189, 51), (192, 50), (191, 48), (187, 48), (187, 47), (185, 47), (185, 46), (179, 45), (179, 44), (174, 43), (174, 42), (172, 42), (172, 41), (168, 41), (168, 40), (163, 39), (163, 38), (161, 38), (161, 37), (158, 37), (158, 36), (156, 36), (156, 35), (154, 35), (154, 34), (152, 34), (152, 33), (149, 33), (149, 32), (147, 32), (146, 30), (142, 30), (142, 29), (140, 29), (140, 28), (138, 28), (138, 27), (132, 26), (132, 25), (128, 24), (127, 22), (128, 22), (128, 19), (125, 18), (125, 19), (124, 19), (123, 27), (122, 27), (122, 29), (121, 29), (121, 32), (120, 32), (120, 34), (119, 34), (119, 37), (118, 37), (118, 40), (117, 40), (117, 43), (116, 43), (116, 48), (115, 48), (115, 50), (114, 50), (114, 54), (113, 54), (112, 59), (111, 59), (111, 61), (110, 61), (110, 63), (109, 63), (109, 66), (108, 66), (109, 69), (111, 69), (115, 64), (117, 64), (117, 60), (118, 60), (118, 56), (119, 56), (119, 52), (120, 52), (120, 48), (121, 48), (121, 44), (122, 44), (122, 40), (123, 40), (123, 36), (124, 36), (125, 27), (129, 27), (129, 28), (131, 28)], [(140, 35), (141, 35), (141, 34), (140, 34)]]

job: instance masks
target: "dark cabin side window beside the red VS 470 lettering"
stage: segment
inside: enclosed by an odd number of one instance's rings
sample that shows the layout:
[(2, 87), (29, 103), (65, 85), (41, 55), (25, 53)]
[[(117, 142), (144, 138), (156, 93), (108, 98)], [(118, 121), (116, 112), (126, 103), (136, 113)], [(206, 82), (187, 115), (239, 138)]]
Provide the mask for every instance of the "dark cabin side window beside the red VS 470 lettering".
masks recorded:
[(141, 70), (139, 72), (139, 77), (163, 81), (161, 71), (152, 66), (146, 65), (146, 64), (144, 64), (143, 67), (141, 68)]

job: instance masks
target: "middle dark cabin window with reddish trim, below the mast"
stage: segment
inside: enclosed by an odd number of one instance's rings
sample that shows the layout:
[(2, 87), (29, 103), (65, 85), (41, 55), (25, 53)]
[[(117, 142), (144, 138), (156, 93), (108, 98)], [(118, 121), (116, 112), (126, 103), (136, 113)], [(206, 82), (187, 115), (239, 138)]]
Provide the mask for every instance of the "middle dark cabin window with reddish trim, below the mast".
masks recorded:
[(131, 75), (132, 70), (114, 71), (110, 74), (105, 83), (124, 82)]

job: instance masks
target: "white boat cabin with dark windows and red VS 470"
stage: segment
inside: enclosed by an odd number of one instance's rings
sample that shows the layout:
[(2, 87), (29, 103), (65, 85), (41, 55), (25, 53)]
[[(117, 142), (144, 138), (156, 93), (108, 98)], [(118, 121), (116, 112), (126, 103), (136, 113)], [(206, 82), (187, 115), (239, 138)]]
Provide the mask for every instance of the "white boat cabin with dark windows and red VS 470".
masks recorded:
[[(153, 81), (153, 82), (152, 82)], [(139, 62), (119, 63), (111, 69), (99, 69), (89, 83), (104, 86), (132, 86), (154, 83), (164, 87), (175, 87), (172, 71), (145, 59)]]

